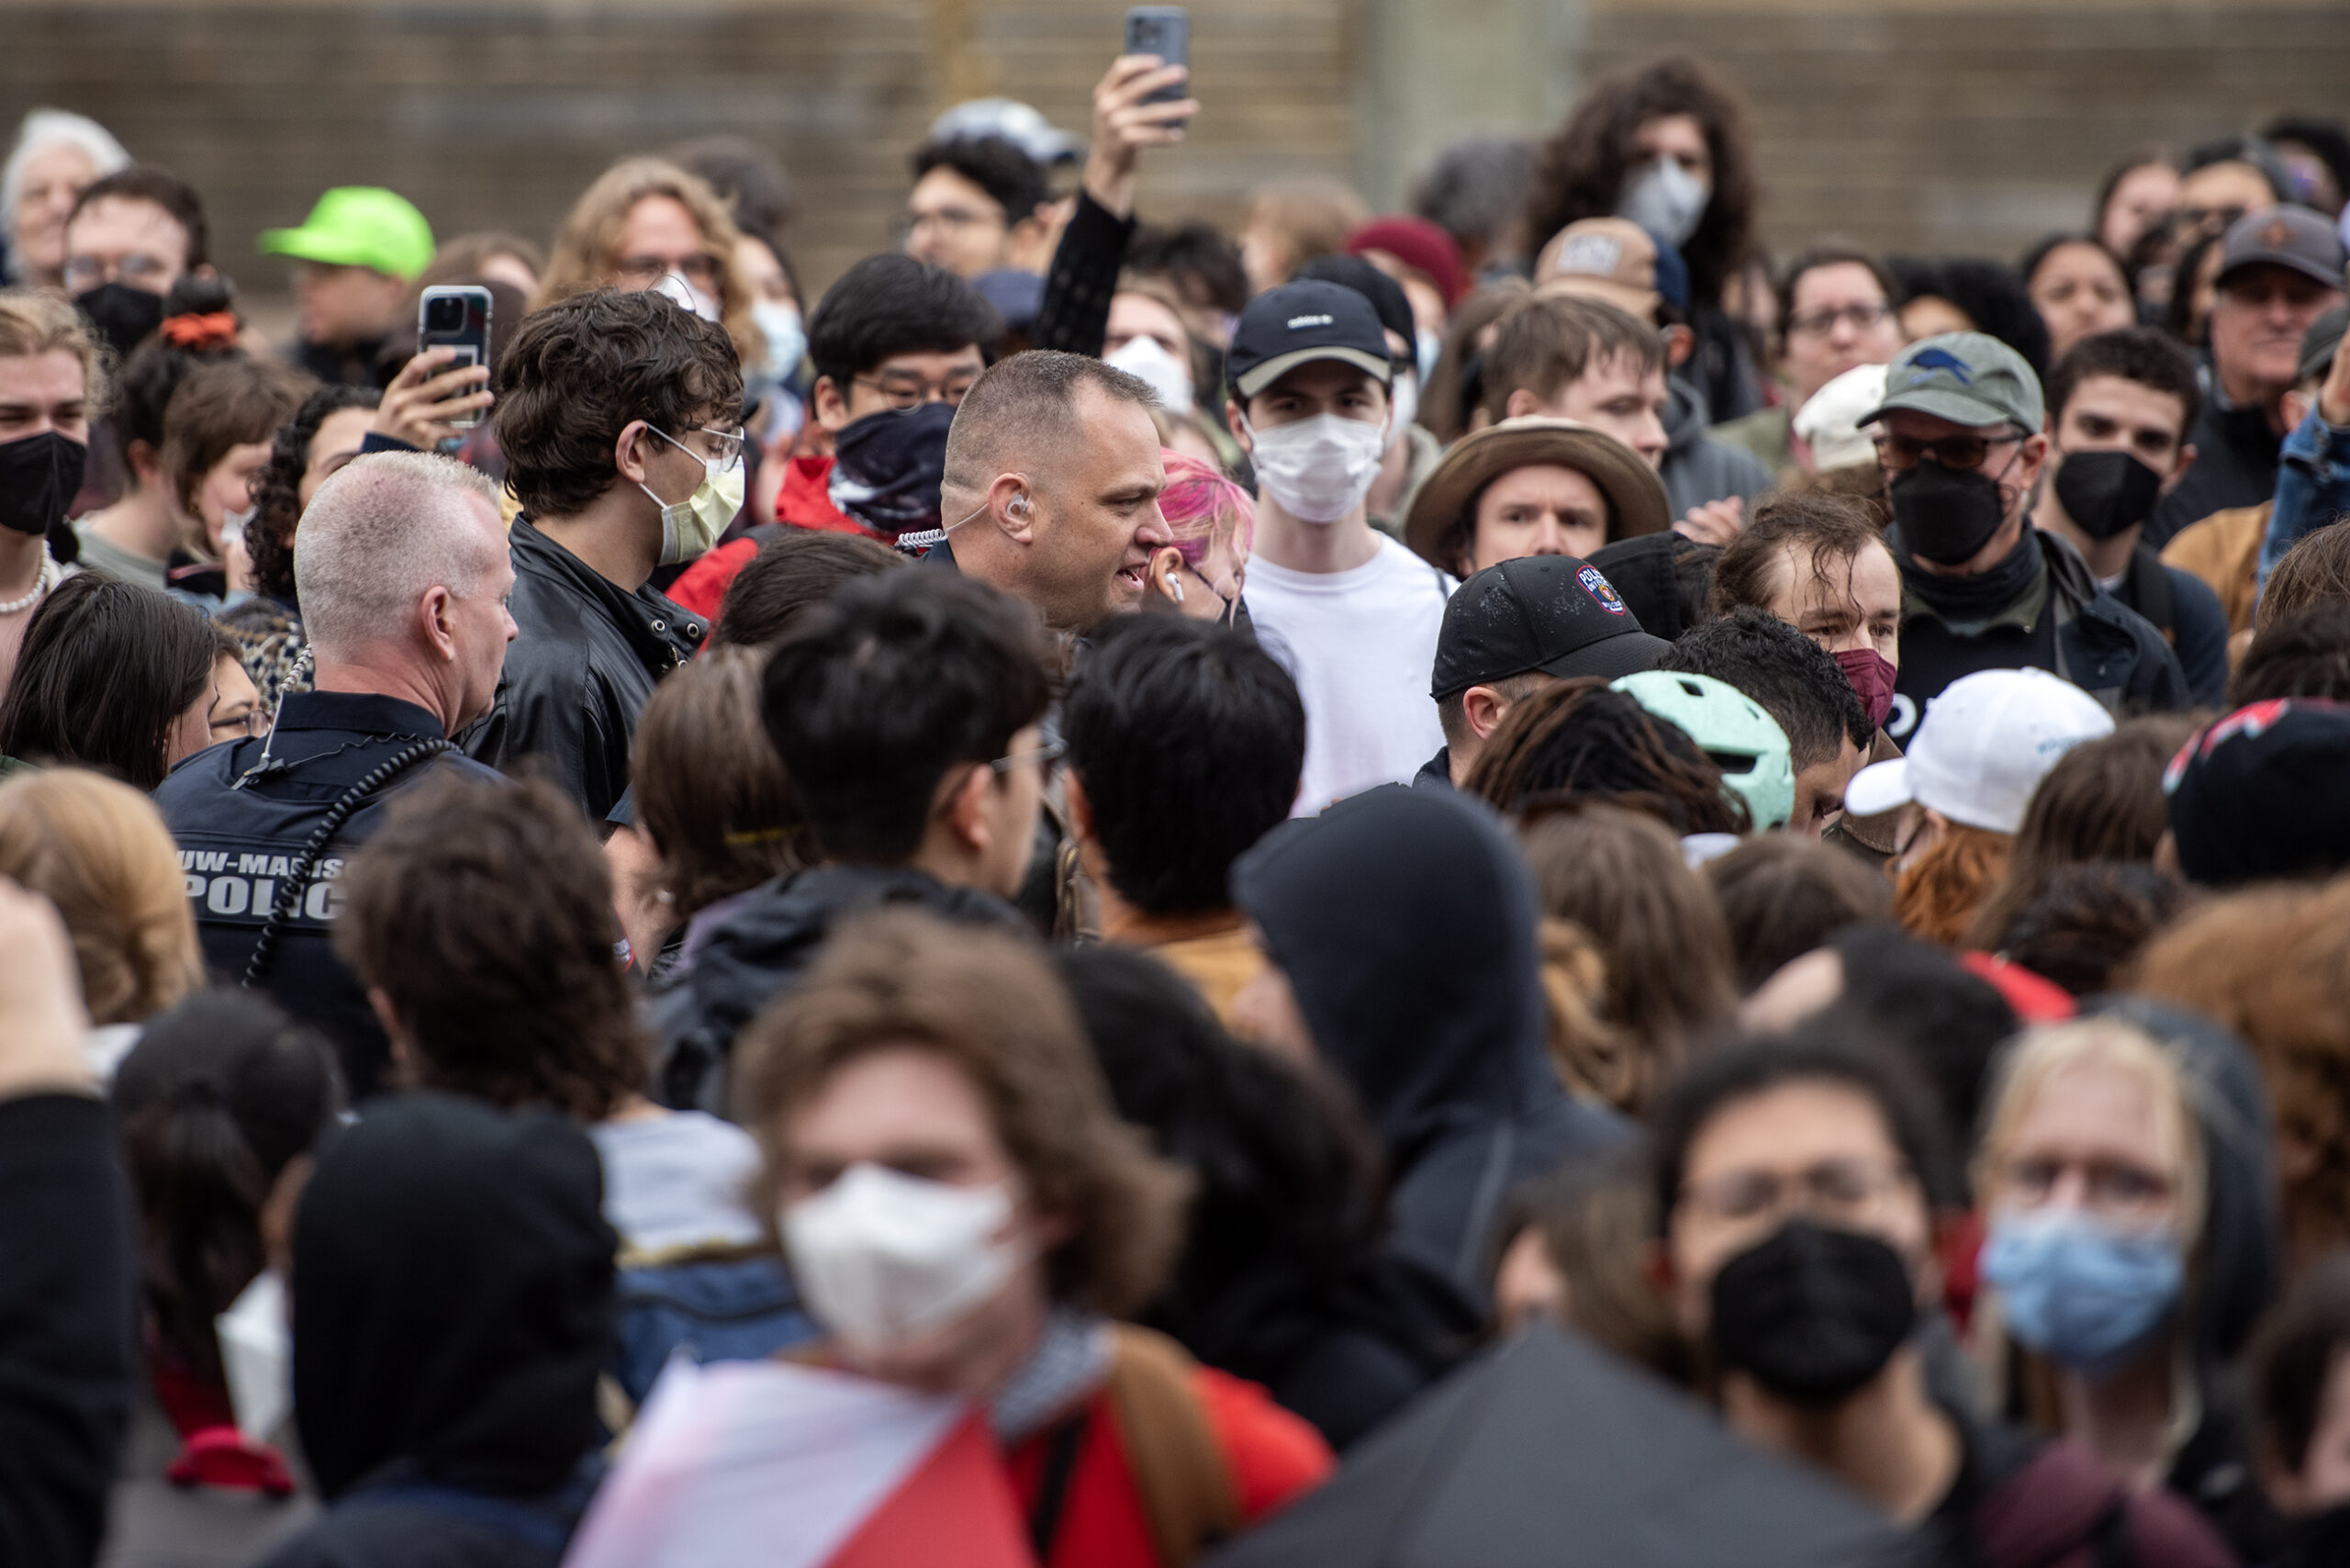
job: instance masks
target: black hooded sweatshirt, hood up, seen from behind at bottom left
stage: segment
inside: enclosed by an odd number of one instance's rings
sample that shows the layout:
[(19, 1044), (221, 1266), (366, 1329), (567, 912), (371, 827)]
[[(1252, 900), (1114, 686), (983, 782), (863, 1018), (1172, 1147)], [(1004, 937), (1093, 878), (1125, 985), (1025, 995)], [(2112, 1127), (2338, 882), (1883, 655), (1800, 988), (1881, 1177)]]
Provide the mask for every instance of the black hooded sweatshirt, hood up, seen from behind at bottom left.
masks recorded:
[(320, 1157), (294, 1220), (294, 1422), (331, 1505), (266, 1568), (552, 1568), (613, 1312), (595, 1145), (414, 1093)]

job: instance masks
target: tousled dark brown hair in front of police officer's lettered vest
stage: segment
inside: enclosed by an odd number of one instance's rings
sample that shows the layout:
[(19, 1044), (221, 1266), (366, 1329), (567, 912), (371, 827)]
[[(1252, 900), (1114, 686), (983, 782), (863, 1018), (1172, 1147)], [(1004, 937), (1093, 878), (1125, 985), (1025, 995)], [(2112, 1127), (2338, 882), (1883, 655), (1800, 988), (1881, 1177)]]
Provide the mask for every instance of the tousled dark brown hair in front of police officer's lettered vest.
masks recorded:
[(611, 872), (555, 785), (437, 769), (338, 886), (334, 950), (385, 994), (418, 1086), (580, 1121), (644, 1093), (651, 1044), (613, 957)]

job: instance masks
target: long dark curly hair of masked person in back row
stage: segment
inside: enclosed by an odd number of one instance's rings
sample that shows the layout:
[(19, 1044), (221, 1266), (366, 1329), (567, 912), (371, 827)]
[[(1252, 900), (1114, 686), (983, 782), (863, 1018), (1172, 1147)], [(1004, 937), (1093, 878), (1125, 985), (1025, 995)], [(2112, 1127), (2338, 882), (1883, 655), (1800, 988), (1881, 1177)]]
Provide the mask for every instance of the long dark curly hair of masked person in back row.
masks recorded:
[(1746, 103), (1713, 68), (1685, 56), (1610, 71), (1535, 155), (1525, 242), (1542, 247), (1577, 219), (1614, 214), (1633, 162), (1633, 136), (1650, 120), (1692, 115), (1713, 155), (1713, 200), (1680, 247), (1690, 299), (1718, 303), (1723, 284), (1753, 254), (1755, 167), (1746, 146)]

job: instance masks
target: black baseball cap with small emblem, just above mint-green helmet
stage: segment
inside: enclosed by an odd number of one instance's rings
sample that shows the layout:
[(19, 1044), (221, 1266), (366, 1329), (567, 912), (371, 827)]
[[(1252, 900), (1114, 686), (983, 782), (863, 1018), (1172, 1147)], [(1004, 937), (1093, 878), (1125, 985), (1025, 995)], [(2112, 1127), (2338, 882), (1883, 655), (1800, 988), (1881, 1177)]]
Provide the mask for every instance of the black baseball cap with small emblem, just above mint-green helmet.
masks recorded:
[(1511, 675), (1598, 675), (1652, 668), (1673, 644), (1640, 630), (1607, 576), (1572, 555), (1520, 555), (1485, 567), (1445, 599), (1429, 696), (1443, 701)]

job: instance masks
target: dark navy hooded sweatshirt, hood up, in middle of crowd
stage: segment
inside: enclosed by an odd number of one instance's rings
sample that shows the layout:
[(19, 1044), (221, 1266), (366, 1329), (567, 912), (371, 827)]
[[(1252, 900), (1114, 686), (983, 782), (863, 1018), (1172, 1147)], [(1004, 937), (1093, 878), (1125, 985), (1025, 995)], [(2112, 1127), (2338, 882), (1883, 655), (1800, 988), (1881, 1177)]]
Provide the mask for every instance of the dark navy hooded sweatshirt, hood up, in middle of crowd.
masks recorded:
[(1379, 1133), (1398, 1251), (1483, 1309), (1504, 1194), (1629, 1135), (1551, 1072), (1516, 844), (1478, 802), (1386, 785), (1276, 827), (1231, 886)]

